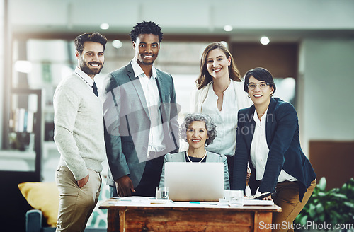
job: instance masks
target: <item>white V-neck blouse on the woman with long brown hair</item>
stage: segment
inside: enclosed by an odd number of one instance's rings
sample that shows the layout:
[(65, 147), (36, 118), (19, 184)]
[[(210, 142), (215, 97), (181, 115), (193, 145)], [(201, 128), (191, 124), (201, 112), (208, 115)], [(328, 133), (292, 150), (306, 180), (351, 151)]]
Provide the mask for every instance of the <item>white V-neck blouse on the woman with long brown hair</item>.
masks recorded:
[(230, 84), (224, 91), (222, 110), (217, 108), (218, 96), (215, 94), (213, 83), (209, 86), (207, 98), (202, 103), (202, 113), (209, 115), (217, 125), (217, 137), (212, 144), (206, 147), (212, 151), (225, 156), (234, 156), (236, 148), (236, 127), (237, 127), (237, 105), (234, 85)]

